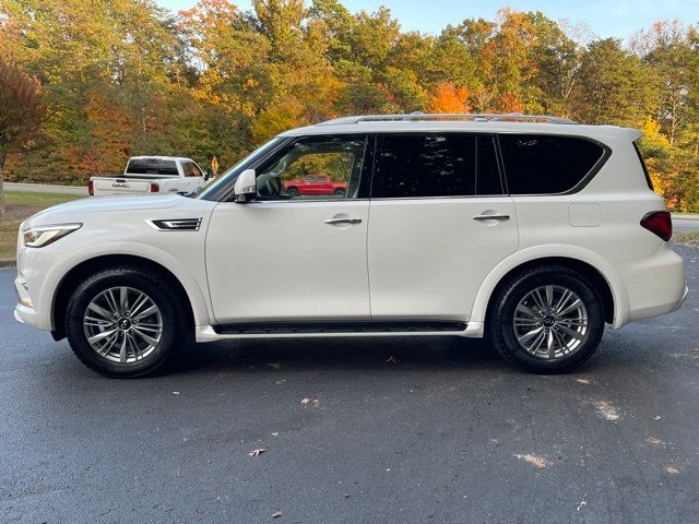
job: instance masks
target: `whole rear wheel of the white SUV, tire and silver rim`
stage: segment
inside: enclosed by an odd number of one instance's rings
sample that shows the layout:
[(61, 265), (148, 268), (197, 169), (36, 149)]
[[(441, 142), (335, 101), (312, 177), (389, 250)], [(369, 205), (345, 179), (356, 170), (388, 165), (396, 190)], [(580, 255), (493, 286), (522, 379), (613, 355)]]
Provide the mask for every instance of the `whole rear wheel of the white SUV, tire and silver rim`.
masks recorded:
[(494, 297), (488, 330), (507, 360), (534, 373), (561, 373), (592, 356), (604, 310), (592, 284), (565, 266), (528, 270)]

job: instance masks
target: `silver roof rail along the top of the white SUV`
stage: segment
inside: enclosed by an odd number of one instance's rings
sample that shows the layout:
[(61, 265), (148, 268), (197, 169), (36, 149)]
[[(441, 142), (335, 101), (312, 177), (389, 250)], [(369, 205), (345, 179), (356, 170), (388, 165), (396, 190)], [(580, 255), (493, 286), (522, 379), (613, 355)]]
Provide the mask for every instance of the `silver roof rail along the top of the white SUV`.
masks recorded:
[(549, 115), (522, 115), (521, 112), (510, 112), (505, 115), (491, 114), (422, 114), (412, 112), (410, 115), (366, 115), (356, 117), (336, 118), (320, 122), (317, 126), (337, 126), (359, 122), (412, 122), (430, 120), (471, 120), (474, 122), (496, 122), (496, 121), (520, 121), (520, 122), (543, 122), (543, 123), (578, 123), (568, 118), (553, 117)]

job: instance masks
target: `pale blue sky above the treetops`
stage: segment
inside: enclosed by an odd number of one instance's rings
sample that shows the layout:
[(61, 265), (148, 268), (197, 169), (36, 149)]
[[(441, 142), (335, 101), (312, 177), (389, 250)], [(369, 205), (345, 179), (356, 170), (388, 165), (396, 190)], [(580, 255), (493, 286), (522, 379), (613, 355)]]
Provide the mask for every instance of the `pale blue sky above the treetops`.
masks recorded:
[[(155, 0), (173, 11), (190, 9), (196, 0)], [(232, 0), (241, 9), (250, 0)], [(464, 19), (491, 20), (503, 5), (518, 11), (542, 11), (553, 20), (584, 23), (599, 37), (625, 38), (656, 20), (678, 19), (687, 24), (699, 22), (699, 0), (344, 0), (350, 11), (375, 11), (386, 5), (399, 20), (403, 31), (439, 34), (448, 24)]]

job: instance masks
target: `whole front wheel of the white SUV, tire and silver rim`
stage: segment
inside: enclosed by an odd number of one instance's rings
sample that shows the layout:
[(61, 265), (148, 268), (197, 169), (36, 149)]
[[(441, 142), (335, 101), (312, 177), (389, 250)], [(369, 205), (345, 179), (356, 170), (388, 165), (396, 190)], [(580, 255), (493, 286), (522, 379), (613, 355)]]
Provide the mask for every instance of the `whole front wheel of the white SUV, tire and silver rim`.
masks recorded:
[(140, 267), (90, 276), (73, 293), (66, 333), (90, 369), (112, 378), (152, 373), (191, 345), (191, 320), (171, 284)]

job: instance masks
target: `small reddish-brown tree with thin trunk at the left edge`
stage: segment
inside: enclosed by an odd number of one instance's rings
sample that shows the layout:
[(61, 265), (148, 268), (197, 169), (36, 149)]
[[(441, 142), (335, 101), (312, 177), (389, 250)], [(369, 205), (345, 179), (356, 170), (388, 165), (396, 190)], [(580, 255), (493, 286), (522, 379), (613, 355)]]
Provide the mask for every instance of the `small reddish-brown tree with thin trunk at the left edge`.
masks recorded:
[(4, 219), (4, 163), (8, 153), (29, 142), (44, 116), (35, 79), (0, 60), (0, 218)]

